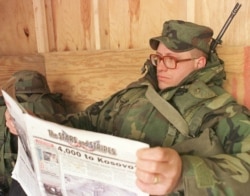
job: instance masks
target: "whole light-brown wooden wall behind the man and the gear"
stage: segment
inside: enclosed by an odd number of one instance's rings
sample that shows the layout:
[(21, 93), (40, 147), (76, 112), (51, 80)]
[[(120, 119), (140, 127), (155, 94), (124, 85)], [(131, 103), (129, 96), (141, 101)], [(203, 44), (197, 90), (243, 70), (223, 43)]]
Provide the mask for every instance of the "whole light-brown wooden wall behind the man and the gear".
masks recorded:
[[(104, 98), (110, 94), (107, 89), (116, 90), (116, 81), (125, 85), (121, 71), (126, 61), (136, 64), (126, 73), (142, 66), (148, 40), (161, 33), (164, 21), (207, 25), (216, 38), (237, 2), (242, 6), (223, 36), (223, 48), (229, 47), (222, 51), (227, 58), (225, 87), (250, 108), (249, 0), (0, 0), (0, 85), (15, 71), (32, 69), (45, 74), (52, 90), (62, 91), (70, 101)], [(140, 61), (133, 51), (139, 51)], [(100, 75), (94, 73), (98, 70)], [(104, 79), (95, 80), (100, 76)], [(84, 94), (93, 81), (96, 89)]]

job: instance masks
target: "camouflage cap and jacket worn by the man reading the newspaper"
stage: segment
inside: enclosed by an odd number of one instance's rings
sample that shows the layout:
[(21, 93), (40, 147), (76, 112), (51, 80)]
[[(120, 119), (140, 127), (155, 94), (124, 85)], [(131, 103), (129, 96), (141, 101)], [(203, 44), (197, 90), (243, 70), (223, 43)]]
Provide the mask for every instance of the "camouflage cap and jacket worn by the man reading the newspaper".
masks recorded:
[[(167, 21), (162, 36), (152, 38), (175, 52), (198, 48), (209, 54), (210, 28)], [(159, 90), (155, 67), (146, 61), (147, 74), (85, 111), (68, 115), (76, 128), (107, 133), (176, 149), (183, 162), (181, 182), (170, 195), (246, 195), (250, 192), (250, 112), (222, 88), (223, 61), (209, 55), (205, 68), (190, 74), (178, 86)], [(188, 125), (177, 129), (149, 101), (149, 88), (169, 102)], [(169, 114), (171, 115), (171, 113)]]

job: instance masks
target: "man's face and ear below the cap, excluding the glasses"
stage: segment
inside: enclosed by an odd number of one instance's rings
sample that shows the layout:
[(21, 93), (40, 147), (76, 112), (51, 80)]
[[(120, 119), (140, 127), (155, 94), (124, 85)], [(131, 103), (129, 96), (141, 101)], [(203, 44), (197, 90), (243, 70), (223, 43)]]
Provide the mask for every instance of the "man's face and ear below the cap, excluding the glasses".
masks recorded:
[[(191, 56), (190, 51), (176, 53), (169, 50), (162, 43), (159, 44), (156, 54), (160, 56), (171, 56), (177, 60), (194, 58)], [(164, 65), (162, 60), (159, 61), (156, 65), (158, 87), (163, 90), (168, 87), (177, 86), (186, 76), (198, 69), (197, 60), (198, 58), (178, 62), (175, 69), (169, 69)]]

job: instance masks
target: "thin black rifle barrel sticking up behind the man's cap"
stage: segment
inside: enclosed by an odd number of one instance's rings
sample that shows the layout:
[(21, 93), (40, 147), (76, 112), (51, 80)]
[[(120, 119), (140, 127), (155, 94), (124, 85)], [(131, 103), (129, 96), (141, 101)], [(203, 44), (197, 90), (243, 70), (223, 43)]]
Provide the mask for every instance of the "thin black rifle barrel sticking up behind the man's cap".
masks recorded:
[(220, 33), (218, 34), (216, 39), (212, 39), (212, 42), (210, 44), (210, 52), (214, 53), (215, 52), (215, 48), (218, 44), (222, 43), (222, 36), (224, 35), (225, 31), (227, 30), (228, 26), (230, 25), (230, 23), (232, 22), (234, 16), (237, 14), (237, 12), (239, 11), (241, 7), (241, 4), (236, 3), (236, 5), (234, 6), (230, 16), (228, 17), (226, 23), (224, 24), (224, 26), (222, 27), (222, 29), (220, 30)]

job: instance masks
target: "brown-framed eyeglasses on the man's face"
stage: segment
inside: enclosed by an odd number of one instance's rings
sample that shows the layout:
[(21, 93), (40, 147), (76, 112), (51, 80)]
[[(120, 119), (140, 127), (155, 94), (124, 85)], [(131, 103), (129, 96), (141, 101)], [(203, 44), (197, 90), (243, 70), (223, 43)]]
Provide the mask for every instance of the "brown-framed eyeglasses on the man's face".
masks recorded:
[(160, 56), (158, 54), (150, 54), (149, 58), (154, 66), (157, 66), (162, 61), (163, 64), (165, 65), (165, 67), (168, 69), (176, 69), (177, 64), (180, 62), (198, 59), (198, 58), (189, 58), (189, 59), (179, 59), (178, 60), (173, 56)]

